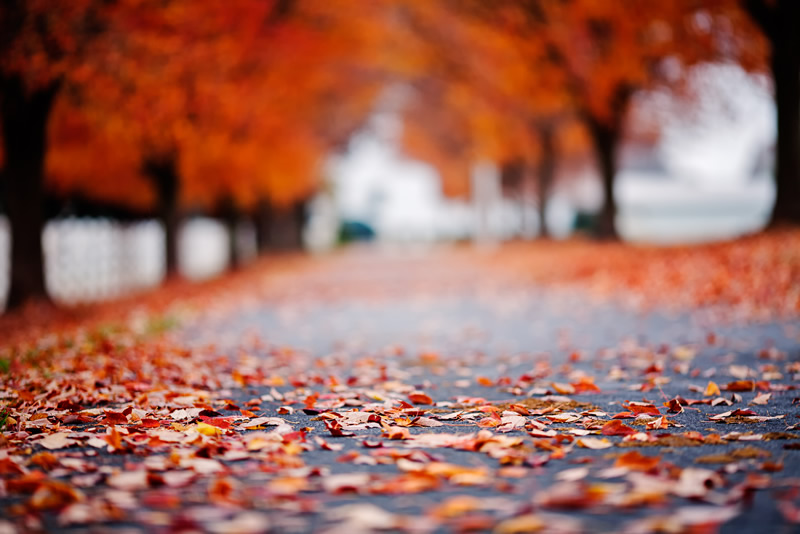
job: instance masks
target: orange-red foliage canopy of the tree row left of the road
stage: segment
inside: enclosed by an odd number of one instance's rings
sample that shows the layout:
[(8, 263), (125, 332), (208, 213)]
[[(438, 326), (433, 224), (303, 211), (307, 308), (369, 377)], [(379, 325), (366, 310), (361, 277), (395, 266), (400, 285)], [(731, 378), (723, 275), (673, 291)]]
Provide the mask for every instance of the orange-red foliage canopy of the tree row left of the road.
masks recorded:
[[(31, 87), (61, 81), (49, 125), (49, 186), (148, 209), (149, 157), (177, 159), (181, 200), (286, 205), (317, 187), (318, 165), (369, 113), (381, 53), (376, 17), (360, 2), (125, 0), (49, 11), (46, 39), (20, 32), (3, 68)], [(10, 12), (3, 12), (8, 14)], [(87, 26), (96, 21), (96, 36)], [(40, 42), (41, 41), (41, 42)], [(73, 42), (75, 41), (75, 42)]]

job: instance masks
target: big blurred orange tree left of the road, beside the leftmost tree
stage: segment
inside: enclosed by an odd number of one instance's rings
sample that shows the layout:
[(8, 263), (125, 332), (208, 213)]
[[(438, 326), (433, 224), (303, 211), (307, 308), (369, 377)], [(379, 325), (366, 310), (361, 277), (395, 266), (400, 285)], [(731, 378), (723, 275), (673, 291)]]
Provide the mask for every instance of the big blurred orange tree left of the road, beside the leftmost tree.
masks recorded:
[[(165, 229), (167, 273), (174, 275), (187, 209), (219, 214), (229, 228), (259, 208), (272, 214), (267, 225), (281, 214), (294, 223), (317, 187), (326, 149), (363, 120), (375, 84), (353, 87), (362, 79), (344, 59), (363, 59), (358, 54), (368, 47), (359, 32), (368, 26), (339, 20), (351, 14), (344, 4), (337, 11), (311, 0), (148, 7), (107, 32), (106, 48), (93, 58), (92, 83), (72, 107), (89, 137), (102, 142), (80, 154), (59, 138), (53, 178), (62, 193), (108, 199), (102, 168), (71, 172), (69, 158), (98, 161), (94, 150), (119, 140), (112, 152), (128, 155), (121, 174), (131, 174), (134, 160), (139, 180), (118, 182), (121, 194), (112, 196), (125, 203), (141, 197), (131, 194), (141, 182), (150, 184), (149, 210)], [(234, 244), (231, 236), (236, 263)]]

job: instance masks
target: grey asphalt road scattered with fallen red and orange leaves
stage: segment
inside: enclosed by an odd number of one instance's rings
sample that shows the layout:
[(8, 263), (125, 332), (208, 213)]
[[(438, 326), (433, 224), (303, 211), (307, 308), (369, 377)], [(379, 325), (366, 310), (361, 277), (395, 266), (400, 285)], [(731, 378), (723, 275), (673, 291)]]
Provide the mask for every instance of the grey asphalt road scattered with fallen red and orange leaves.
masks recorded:
[[(228, 295), (220, 310), (190, 316), (170, 334), (173, 343), (237, 360), (262, 377), (244, 386), (227, 382), (208, 391), (209, 398), (240, 407), (262, 400), (258, 416), (280, 417), (288, 430), (306, 431), (302, 461), (225, 461), (236, 491), (247, 495), (245, 506), (210, 505), (209, 479), (200, 478), (174, 491), (135, 493), (130, 513), (116, 522), (67, 525), (45, 516), (42, 528), (713, 532), (719, 523), (723, 533), (800, 531), (789, 521), (800, 504), (800, 450), (792, 448), (800, 445), (800, 431), (787, 433), (800, 414), (794, 402), (800, 397), (794, 389), (800, 323), (733, 323), (721, 320), (719, 310), (641, 311), (627, 305), (624, 294), (598, 301), (579, 287), (536, 287), (464, 257), (351, 251), (285, 273), (266, 292), (254, 287)], [(748, 380), (755, 390), (725, 390)], [(581, 383), (599, 391), (570, 390)], [(710, 383), (721, 391), (709, 391)], [(386, 399), (411, 401), (413, 390), (436, 405), (418, 405), (405, 421), (422, 415), (442, 423), (409, 426), (412, 437), (428, 435), (418, 442), (390, 439), (375, 423), (346, 428), (338, 437), (326, 428), (326, 412), (372, 413)], [(308, 401), (315, 393), (316, 404)], [(751, 405), (759, 395), (762, 404)], [(664, 405), (676, 397), (682, 413)], [(719, 398), (726, 402), (710, 404)], [(508, 409), (527, 402), (533, 410), (569, 400), (581, 404), (529, 414), (525, 427), (508, 432), (476, 424), (491, 415), (487, 405)], [(601, 434), (630, 401), (650, 403), (680, 425), (648, 431), (621, 419), (642, 435), (696, 432), (701, 438), (641, 446)], [(736, 409), (752, 414), (710, 419)], [(547, 419), (564, 412), (573, 415)], [(454, 413), (460, 415), (447, 419)], [(537, 434), (532, 421), (553, 435)], [(402, 420), (394, 423), (402, 426)], [(443, 445), (479, 431), (521, 440), (519, 454), (492, 454), (474, 443)], [(582, 437), (608, 443), (581, 447)], [(620, 460), (631, 451), (653, 467)], [(213, 457), (214, 451), (203, 454)], [(96, 461), (129, 469), (146, 460), (101, 452)], [(433, 464), (444, 471), (404, 478)], [(679, 488), (678, 482), (685, 484)], [(285, 489), (292, 484), (302, 489)], [(102, 495), (107, 488), (85, 491)], [(180, 505), (164, 506), (170, 499)], [(14, 502), (19, 499), (0, 495), (2, 505)]]

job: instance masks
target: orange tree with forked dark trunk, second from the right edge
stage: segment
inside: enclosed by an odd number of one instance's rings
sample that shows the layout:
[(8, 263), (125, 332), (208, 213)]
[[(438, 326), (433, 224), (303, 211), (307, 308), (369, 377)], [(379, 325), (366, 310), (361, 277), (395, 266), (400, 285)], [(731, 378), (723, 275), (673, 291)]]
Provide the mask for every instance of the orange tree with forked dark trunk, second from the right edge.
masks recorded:
[(632, 97), (655, 86), (680, 86), (682, 75), (670, 69), (685, 72), (700, 62), (725, 60), (752, 66), (759, 48), (748, 42), (752, 32), (742, 14), (724, 2), (524, 4), (533, 22), (529, 29), (544, 32), (590, 133), (604, 192), (598, 232), (615, 238), (617, 151)]

